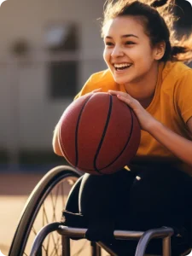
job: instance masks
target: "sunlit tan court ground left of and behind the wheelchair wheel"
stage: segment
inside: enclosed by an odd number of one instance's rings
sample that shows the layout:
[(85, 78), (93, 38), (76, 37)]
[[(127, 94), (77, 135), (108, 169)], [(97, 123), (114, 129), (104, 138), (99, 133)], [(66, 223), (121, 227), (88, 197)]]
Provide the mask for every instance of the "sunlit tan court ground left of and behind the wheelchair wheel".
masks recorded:
[[(44, 174), (0, 173), (0, 256), (8, 255), (20, 213), (32, 189), (43, 176)], [(60, 218), (61, 209), (58, 209), (58, 214), (58, 218)], [(48, 218), (50, 219), (52, 217), (48, 216)], [(34, 236), (32, 237), (32, 241), (33, 239)], [(82, 247), (84, 249), (79, 253)], [(73, 256), (89, 256), (89, 242), (85, 240), (73, 241), (72, 254)], [(108, 253), (102, 251), (102, 256), (107, 255)]]

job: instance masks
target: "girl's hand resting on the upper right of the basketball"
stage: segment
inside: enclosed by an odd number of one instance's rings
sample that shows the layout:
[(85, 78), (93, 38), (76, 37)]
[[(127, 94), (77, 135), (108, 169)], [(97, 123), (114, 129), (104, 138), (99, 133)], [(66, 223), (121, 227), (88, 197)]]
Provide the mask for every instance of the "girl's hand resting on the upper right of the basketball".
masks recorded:
[(131, 97), (129, 94), (117, 90), (108, 90), (108, 93), (110, 93), (111, 95), (116, 95), (120, 101), (125, 102), (130, 108), (132, 108), (134, 113), (137, 115), (137, 119), (141, 125), (141, 128), (144, 131), (149, 132), (151, 129), (153, 129), (152, 127), (154, 126), (154, 124), (158, 122), (150, 113), (148, 113), (143, 108), (140, 102)]

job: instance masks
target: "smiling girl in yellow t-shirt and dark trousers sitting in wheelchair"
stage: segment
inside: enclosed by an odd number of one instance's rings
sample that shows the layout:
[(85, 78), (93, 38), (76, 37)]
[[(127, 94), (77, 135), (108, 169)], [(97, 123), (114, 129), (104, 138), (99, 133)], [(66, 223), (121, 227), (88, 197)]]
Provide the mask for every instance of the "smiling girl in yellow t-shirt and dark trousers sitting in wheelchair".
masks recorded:
[[(172, 254), (189, 247), (192, 218), (192, 36), (177, 41), (173, 0), (108, 1), (102, 24), (108, 69), (93, 74), (76, 96), (105, 91), (136, 113), (141, 143), (129, 166), (101, 177), (84, 174), (66, 212), (80, 212), (90, 240), (106, 241), (118, 255), (135, 243), (114, 241), (113, 230), (171, 226)], [(61, 155), (57, 130), (55, 154)], [(79, 203), (78, 203), (79, 202)], [(159, 242), (148, 248), (160, 253)], [(153, 251), (153, 253), (154, 253)]]

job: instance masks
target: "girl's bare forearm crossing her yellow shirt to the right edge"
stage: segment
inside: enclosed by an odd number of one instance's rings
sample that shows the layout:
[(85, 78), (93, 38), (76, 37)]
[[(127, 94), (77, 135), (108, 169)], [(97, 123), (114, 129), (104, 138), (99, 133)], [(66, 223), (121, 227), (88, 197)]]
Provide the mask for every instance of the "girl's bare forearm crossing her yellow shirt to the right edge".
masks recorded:
[(180, 160), (192, 166), (192, 142), (155, 121), (148, 131), (159, 143), (168, 148)]

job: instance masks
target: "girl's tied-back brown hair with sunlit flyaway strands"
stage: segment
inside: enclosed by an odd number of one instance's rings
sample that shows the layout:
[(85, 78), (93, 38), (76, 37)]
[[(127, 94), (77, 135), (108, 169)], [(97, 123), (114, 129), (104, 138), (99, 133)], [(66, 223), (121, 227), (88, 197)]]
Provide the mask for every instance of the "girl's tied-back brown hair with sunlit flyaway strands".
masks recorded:
[(107, 0), (102, 22), (102, 36), (108, 20), (131, 15), (142, 20), (146, 33), (154, 46), (166, 43), (166, 51), (160, 61), (192, 61), (192, 34), (177, 40), (173, 28), (177, 18), (173, 14), (175, 0)]

